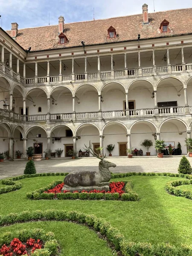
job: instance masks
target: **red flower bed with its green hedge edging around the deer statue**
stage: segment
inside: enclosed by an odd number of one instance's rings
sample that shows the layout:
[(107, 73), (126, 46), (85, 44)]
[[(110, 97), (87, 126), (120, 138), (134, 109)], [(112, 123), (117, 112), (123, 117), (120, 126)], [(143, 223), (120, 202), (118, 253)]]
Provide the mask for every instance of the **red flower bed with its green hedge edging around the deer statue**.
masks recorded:
[(49, 186), (27, 193), (28, 199), (81, 199), (81, 200), (122, 200), (137, 201), (139, 196), (132, 190), (132, 181), (116, 181), (110, 183), (110, 191), (92, 190), (74, 191), (64, 190), (61, 192), (64, 183), (62, 181), (53, 181)]

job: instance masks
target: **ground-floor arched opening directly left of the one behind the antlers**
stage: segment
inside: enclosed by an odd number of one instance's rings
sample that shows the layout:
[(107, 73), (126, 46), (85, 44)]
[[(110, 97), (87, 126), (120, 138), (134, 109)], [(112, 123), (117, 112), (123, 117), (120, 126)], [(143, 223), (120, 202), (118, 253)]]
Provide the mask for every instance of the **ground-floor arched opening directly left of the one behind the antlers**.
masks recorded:
[(73, 149), (73, 131), (66, 125), (58, 125), (51, 132), (51, 151), (52, 157), (57, 157), (55, 149), (61, 148), (63, 153), (61, 157), (69, 157), (67, 153)]

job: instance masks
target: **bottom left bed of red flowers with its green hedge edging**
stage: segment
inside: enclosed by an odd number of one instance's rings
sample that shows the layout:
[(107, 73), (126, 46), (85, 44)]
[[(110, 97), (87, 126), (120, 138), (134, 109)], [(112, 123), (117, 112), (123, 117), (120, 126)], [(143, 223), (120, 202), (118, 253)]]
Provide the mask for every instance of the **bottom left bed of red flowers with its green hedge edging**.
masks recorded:
[(55, 256), (58, 254), (58, 242), (54, 236), (54, 233), (41, 229), (20, 230), (16, 234), (6, 232), (0, 236), (0, 255)]

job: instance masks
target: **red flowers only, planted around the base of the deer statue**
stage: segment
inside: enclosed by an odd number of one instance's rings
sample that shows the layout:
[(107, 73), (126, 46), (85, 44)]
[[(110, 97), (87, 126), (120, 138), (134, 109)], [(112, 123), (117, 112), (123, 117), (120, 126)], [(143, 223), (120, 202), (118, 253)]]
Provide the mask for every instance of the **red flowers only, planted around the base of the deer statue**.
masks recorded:
[[(44, 193), (55, 193), (55, 195), (57, 193), (61, 193), (61, 189), (62, 187), (64, 186), (64, 182), (62, 182), (61, 184), (58, 184), (57, 186), (55, 186), (53, 189), (49, 189), (47, 191), (44, 191)], [(85, 190), (82, 190), (81, 192), (86, 192), (86, 193), (119, 193), (119, 195), (122, 195), (123, 193), (125, 193), (125, 191), (123, 190), (125, 186), (125, 183), (124, 182), (111, 182), (110, 185), (109, 185), (109, 188), (110, 190), (109, 191), (105, 191), (105, 190), (91, 190), (89, 192), (85, 191)], [(67, 192), (70, 192), (69, 190), (64, 190), (63, 193), (67, 193)], [(74, 191), (73, 193), (75, 192), (78, 192), (78, 191)], [(80, 192), (80, 193), (81, 193)]]

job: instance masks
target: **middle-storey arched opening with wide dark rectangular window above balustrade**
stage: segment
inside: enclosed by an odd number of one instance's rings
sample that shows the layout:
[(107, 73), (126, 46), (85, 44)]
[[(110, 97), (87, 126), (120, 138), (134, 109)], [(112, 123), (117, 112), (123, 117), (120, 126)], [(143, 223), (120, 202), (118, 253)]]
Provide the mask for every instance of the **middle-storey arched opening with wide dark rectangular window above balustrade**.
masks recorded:
[(166, 78), (157, 84), (159, 113), (178, 113), (177, 106), (184, 106), (183, 84), (176, 78)]

